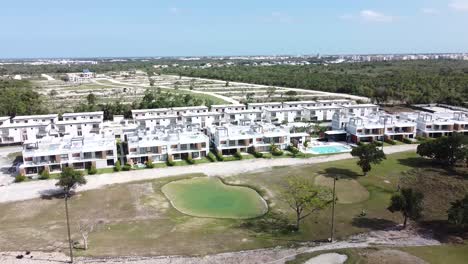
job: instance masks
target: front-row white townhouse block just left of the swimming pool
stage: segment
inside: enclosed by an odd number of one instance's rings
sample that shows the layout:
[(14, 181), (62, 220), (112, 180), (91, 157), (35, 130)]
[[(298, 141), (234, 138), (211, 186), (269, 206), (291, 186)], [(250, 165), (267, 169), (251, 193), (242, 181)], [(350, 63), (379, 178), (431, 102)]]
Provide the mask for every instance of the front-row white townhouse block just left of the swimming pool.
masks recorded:
[(289, 129), (267, 123), (253, 125), (225, 124), (210, 129), (211, 140), (217, 151), (232, 155), (237, 151), (269, 151), (272, 144), (285, 149), (290, 144)]

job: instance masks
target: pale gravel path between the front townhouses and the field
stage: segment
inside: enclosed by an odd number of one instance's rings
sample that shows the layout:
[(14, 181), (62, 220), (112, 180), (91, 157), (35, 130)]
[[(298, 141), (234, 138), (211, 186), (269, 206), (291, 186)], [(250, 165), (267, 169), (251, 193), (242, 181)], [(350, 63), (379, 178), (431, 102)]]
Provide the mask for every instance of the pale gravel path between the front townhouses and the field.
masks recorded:
[[(398, 145), (385, 147), (386, 154), (396, 152), (414, 151), (417, 145)], [(98, 189), (115, 183), (157, 179), (192, 173), (204, 173), (208, 176), (231, 176), (277, 166), (294, 166), (316, 164), (336, 160), (350, 159), (351, 154), (337, 154), (331, 156), (318, 156), (308, 159), (280, 158), (280, 159), (250, 159), (231, 162), (204, 163), (183, 167), (168, 167), (153, 170), (123, 171), (106, 173), (87, 177), (88, 183), (78, 190)], [(41, 195), (56, 193), (55, 180), (31, 181), (19, 184), (0, 186), (0, 203), (21, 201), (39, 198)]]

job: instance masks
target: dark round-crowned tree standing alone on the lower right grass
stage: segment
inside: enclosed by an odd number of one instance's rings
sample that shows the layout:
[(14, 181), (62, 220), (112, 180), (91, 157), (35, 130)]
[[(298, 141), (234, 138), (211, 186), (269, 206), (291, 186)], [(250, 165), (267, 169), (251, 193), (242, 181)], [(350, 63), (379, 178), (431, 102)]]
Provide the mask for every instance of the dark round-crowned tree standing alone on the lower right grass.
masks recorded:
[(405, 228), (408, 219), (418, 220), (421, 217), (423, 199), (424, 195), (421, 192), (403, 188), (392, 195), (387, 209), (392, 213), (400, 212), (403, 215), (403, 228)]

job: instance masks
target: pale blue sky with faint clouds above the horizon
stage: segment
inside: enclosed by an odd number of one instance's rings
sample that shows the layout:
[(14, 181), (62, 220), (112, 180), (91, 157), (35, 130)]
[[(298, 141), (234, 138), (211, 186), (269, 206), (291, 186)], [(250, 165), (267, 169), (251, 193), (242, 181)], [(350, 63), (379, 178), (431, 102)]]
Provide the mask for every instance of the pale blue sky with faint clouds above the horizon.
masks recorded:
[(15, 0), (0, 57), (468, 52), (468, 0)]

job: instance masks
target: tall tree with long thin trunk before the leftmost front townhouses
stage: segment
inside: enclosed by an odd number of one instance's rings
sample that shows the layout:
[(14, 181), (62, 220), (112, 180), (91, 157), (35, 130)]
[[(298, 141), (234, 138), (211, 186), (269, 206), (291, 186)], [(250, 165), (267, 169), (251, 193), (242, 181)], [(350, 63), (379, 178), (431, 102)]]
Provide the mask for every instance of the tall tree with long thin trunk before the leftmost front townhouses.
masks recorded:
[(81, 171), (76, 171), (71, 167), (66, 167), (62, 170), (58, 182), (55, 184), (63, 189), (65, 195), (65, 215), (67, 218), (67, 231), (68, 231), (68, 246), (70, 247), (70, 262), (73, 262), (73, 243), (70, 233), (70, 217), (68, 214), (68, 199), (72, 191), (79, 185), (86, 184), (86, 179)]

